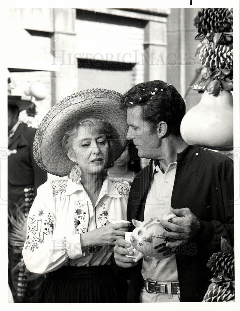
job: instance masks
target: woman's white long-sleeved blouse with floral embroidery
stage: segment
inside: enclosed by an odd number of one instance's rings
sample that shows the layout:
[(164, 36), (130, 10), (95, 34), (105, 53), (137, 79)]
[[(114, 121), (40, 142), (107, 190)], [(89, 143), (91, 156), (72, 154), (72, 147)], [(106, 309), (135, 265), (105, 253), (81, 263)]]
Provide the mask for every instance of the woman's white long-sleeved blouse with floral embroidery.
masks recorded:
[(92, 246), (82, 253), (80, 235), (111, 223), (127, 220), (128, 187), (103, 182), (95, 206), (82, 184), (67, 177), (47, 181), (37, 189), (27, 222), (23, 259), (27, 269), (47, 273), (62, 266), (110, 264), (113, 246)]

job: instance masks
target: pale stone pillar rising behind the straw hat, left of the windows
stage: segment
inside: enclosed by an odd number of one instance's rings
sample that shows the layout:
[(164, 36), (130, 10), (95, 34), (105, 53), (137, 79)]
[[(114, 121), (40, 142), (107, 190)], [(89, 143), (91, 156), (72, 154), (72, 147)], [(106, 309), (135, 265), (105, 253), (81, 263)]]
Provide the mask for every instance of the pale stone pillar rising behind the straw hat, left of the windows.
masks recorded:
[(75, 49), (76, 9), (53, 9), (54, 33), (51, 51), (60, 71), (51, 73), (52, 106), (78, 91), (78, 63)]

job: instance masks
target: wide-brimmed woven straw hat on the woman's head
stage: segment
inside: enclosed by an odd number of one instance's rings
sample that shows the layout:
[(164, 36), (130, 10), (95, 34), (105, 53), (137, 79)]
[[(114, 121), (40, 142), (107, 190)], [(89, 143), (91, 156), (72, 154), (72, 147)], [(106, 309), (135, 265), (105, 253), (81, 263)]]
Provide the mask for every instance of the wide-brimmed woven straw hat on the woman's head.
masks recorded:
[(62, 139), (68, 130), (85, 118), (104, 120), (117, 134), (108, 165), (124, 151), (127, 140), (127, 115), (120, 109), (121, 94), (111, 90), (92, 89), (74, 93), (54, 105), (41, 121), (33, 143), (34, 159), (45, 171), (65, 176), (73, 167), (63, 151)]

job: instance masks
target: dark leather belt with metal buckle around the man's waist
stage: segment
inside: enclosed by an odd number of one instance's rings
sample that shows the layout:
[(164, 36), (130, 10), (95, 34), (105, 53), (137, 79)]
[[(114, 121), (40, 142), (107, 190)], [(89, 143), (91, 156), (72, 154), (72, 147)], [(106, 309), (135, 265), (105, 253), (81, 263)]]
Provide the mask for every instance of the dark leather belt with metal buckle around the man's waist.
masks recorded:
[(150, 278), (144, 280), (144, 287), (148, 293), (168, 294), (169, 298), (172, 298), (172, 294), (180, 294), (178, 282), (160, 282), (154, 281)]

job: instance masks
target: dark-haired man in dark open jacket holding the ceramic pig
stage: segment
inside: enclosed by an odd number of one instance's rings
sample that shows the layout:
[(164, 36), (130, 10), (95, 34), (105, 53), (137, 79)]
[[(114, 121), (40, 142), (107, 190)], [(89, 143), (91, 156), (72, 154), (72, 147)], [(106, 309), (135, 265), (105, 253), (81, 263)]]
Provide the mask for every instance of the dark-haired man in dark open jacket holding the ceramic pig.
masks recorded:
[(151, 257), (137, 263), (126, 257), (132, 255), (129, 242), (117, 241), (115, 261), (130, 268), (128, 300), (201, 301), (212, 277), (206, 267), (209, 257), (220, 250), (221, 236), (234, 243), (233, 161), (183, 141), (185, 103), (170, 84), (140, 83), (123, 95), (122, 106), (127, 109), (127, 138), (140, 157), (152, 159), (132, 183), (128, 220), (161, 219), (167, 211), (177, 216), (161, 222), (171, 230), (164, 235), (176, 252), (156, 268)]

